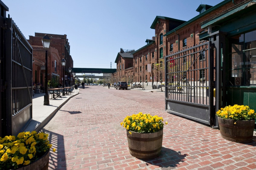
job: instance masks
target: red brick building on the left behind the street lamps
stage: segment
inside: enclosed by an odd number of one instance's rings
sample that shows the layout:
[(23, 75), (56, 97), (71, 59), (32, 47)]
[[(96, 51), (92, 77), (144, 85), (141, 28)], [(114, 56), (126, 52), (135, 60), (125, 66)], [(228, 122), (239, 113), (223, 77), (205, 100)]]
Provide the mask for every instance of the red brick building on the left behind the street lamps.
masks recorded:
[[(42, 63), (33, 63), (33, 82), (45, 85), (44, 74), (41, 73), (41, 66), (45, 62), (45, 49), (42, 46), (44, 33), (35, 33), (35, 36), (29, 36), (28, 42), (33, 47), (33, 57)], [(73, 59), (70, 55), (70, 45), (67, 35), (47, 34), (51, 39), (50, 49), (48, 50), (48, 80), (51, 80), (51, 86), (57, 86), (62, 83), (63, 67), (61, 59), (66, 60), (64, 74), (67, 75), (65, 85), (73, 85), (73, 76), (68, 72), (68, 68), (73, 68)], [(36, 61), (36, 60), (35, 60)], [(44, 67), (44, 66), (43, 66)]]

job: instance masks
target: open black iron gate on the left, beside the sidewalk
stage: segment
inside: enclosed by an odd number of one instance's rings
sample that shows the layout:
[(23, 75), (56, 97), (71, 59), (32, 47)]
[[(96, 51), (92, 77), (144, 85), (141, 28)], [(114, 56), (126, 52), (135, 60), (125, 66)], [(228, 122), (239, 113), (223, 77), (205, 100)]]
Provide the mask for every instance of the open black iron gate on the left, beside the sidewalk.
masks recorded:
[(5, 23), (2, 136), (17, 135), (32, 120), (32, 47), (11, 18)]

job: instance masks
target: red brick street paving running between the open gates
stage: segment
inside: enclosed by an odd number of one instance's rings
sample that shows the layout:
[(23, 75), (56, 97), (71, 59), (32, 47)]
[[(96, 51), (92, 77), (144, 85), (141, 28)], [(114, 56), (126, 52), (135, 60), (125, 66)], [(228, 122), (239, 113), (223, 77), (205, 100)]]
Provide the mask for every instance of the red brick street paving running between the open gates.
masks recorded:
[[(251, 143), (225, 140), (217, 129), (167, 113), (162, 92), (86, 86), (79, 93), (42, 129), (56, 148), (49, 169), (256, 169), (255, 134)], [(168, 122), (157, 158), (137, 159), (129, 153), (120, 122), (139, 112)]]

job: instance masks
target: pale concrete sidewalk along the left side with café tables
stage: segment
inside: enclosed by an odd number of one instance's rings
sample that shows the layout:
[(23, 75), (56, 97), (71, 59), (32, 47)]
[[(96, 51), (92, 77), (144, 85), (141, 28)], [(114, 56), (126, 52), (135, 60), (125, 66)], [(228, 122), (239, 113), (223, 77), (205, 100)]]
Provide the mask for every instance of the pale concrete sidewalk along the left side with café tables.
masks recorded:
[(32, 121), (24, 129), (24, 131), (39, 131), (43, 128), (54, 114), (65, 104), (68, 100), (79, 94), (79, 89), (74, 89), (70, 95), (61, 96), (58, 99), (50, 99), (50, 105), (44, 105), (44, 94), (35, 94), (33, 96), (32, 104)]

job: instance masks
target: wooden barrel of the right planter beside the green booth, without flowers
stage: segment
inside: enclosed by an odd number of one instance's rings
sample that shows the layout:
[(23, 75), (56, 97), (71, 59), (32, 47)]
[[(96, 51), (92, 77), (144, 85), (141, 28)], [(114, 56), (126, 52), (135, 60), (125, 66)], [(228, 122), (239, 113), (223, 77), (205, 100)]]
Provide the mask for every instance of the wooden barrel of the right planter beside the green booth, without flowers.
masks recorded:
[(233, 119), (222, 119), (218, 117), (220, 134), (224, 139), (248, 143), (252, 141), (255, 119), (250, 121), (235, 121)]

